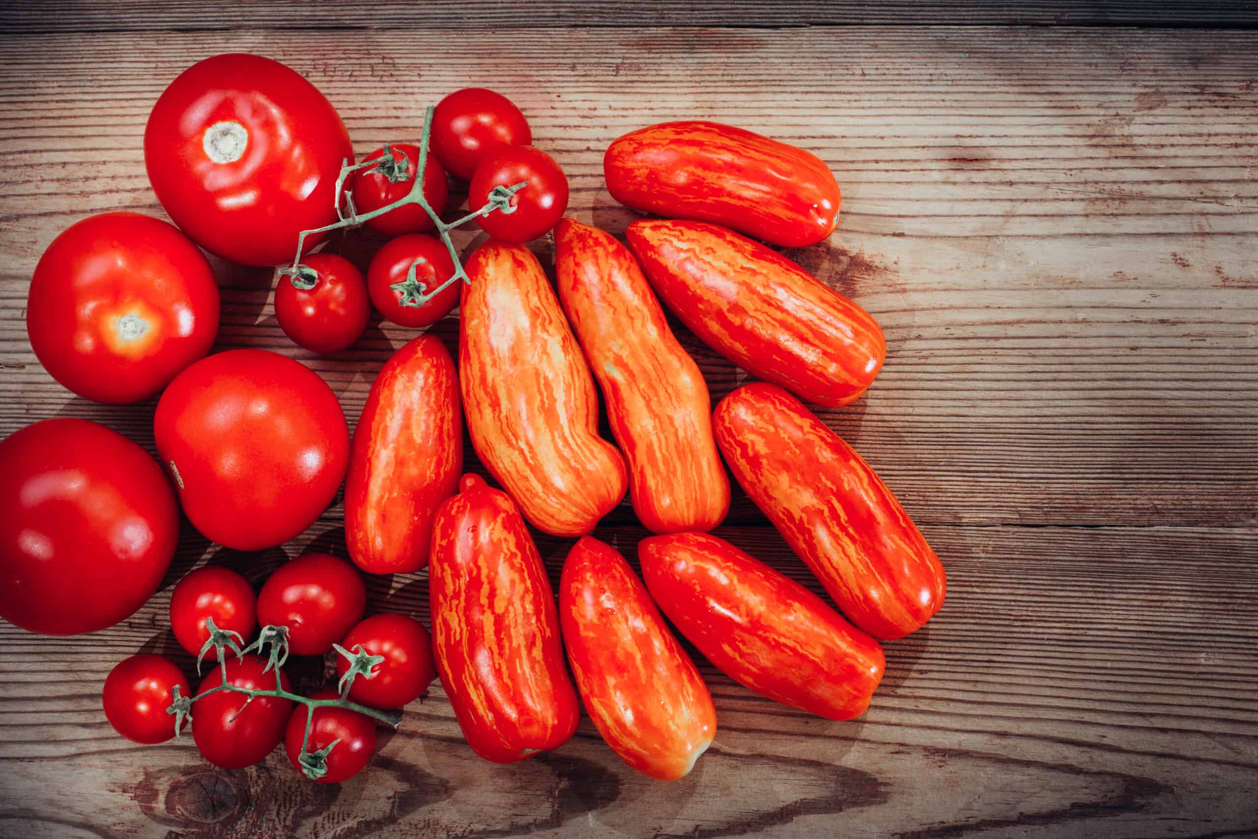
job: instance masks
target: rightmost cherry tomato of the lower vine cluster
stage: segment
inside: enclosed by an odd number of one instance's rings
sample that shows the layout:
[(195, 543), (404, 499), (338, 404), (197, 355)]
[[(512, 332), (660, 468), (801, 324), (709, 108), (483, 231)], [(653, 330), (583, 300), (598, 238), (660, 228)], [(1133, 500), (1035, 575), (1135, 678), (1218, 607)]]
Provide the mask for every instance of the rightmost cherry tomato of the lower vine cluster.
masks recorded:
[[(433, 663), (433, 639), (424, 625), (414, 618), (399, 614), (372, 615), (350, 630), (341, 647), (351, 653), (384, 655), (369, 679), (361, 673), (353, 677), (350, 698), (372, 708), (401, 708), (415, 701), (437, 674)], [(341, 655), (336, 663), (336, 675), (345, 675), (350, 660)]]

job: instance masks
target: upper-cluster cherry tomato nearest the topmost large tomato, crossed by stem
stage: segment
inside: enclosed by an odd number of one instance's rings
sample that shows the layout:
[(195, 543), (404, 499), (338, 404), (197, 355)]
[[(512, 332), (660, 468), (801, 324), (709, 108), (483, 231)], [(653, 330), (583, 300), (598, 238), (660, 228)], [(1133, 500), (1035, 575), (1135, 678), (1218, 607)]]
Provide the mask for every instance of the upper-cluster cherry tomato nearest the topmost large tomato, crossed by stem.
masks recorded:
[[(398, 161), (398, 166), (361, 169), (353, 179), (353, 206), (360, 214), (379, 210), (406, 197), (415, 185), (419, 146), (400, 142), (391, 143), (389, 150), (392, 151), (392, 158)], [(384, 157), (384, 153), (382, 147), (377, 148), (367, 155), (366, 160)], [(390, 180), (390, 175), (401, 177), (401, 180)], [(424, 200), (433, 208), (433, 213), (440, 215), (445, 213), (449, 197), (450, 190), (445, 182), (445, 170), (438, 162), (437, 155), (429, 150), (428, 160), (424, 162)], [(420, 205), (408, 204), (371, 219), (367, 221), (367, 226), (386, 236), (400, 236), (404, 233), (431, 230), (433, 219), (424, 213), (424, 208)]]

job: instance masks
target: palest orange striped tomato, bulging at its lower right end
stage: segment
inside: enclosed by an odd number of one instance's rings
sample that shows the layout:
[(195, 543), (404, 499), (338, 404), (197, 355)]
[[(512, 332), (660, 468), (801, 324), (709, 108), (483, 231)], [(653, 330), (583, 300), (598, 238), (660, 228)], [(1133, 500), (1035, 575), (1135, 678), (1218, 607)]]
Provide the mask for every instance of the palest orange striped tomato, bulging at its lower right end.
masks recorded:
[(525, 518), (581, 536), (624, 498), (624, 458), (599, 436), (599, 395), (528, 248), (491, 239), (467, 264), (459, 379), (472, 445)]

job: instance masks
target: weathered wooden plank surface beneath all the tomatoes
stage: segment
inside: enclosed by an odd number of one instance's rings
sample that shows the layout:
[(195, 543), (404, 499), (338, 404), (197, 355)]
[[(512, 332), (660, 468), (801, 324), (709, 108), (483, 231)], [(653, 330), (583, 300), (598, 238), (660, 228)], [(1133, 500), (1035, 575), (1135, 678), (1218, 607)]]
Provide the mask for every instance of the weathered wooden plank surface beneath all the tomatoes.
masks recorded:
[[(327, 787), (281, 752), (218, 771), (190, 742), (136, 746), (104, 721), (109, 667), (175, 648), (164, 616), (181, 574), (209, 560), (258, 580), (311, 541), (343, 550), (340, 506), (260, 556), (185, 525), (165, 586), (122, 625), (69, 639), (0, 626), (0, 835), (1258, 835), (1258, 33), (433, 31), (419, 10), (327, 30), (317, 5), (293, 31), (150, 3), (133, 23), (152, 31), (84, 35), (128, 16), (33, 8), (0, 13), (0, 435), (74, 415), (151, 448), (152, 404), (72, 397), (35, 361), (23, 307), (74, 220), (161, 215), (145, 118), (201, 57), (297, 68), (360, 152), (418, 136), (423, 106), (450, 89), (494, 87), (567, 170), (572, 214), (618, 233), (633, 214), (603, 185), (608, 142), (706, 117), (838, 174), (838, 233), (791, 255), (879, 318), (889, 356), (867, 399), (825, 419), (898, 493), (950, 585), (926, 629), (887, 644), (854, 722), (703, 665), (721, 730), (672, 785), (634, 775), (587, 720), (555, 753), (486, 764), (434, 687), (366, 772)], [(341, 244), (360, 260), (374, 245)], [(351, 421), (411, 335), (372, 323), (312, 357), (276, 326), (269, 272), (218, 268), (219, 347), (301, 358)], [(454, 317), (435, 328), (453, 346)], [(715, 397), (742, 379), (683, 341)], [(820, 590), (741, 493), (718, 532)], [(624, 504), (598, 535), (632, 556), (644, 531)], [(557, 579), (569, 542), (540, 546)], [(374, 579), (371, 594), (426, 620), (423, 575)]]

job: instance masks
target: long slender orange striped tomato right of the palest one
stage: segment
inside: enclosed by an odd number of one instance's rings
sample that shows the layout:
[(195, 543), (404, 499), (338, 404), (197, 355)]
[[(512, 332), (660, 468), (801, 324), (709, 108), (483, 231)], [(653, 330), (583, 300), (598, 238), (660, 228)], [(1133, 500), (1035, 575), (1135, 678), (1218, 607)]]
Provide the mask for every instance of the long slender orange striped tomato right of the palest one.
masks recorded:
[(614, 236), (564, 219), (555, 253), (559, 299), (603, 389), (634, 512), (653, 533), (712, 530), (730, 509), (730, 479), (703, 374)]

